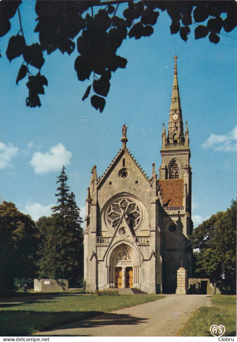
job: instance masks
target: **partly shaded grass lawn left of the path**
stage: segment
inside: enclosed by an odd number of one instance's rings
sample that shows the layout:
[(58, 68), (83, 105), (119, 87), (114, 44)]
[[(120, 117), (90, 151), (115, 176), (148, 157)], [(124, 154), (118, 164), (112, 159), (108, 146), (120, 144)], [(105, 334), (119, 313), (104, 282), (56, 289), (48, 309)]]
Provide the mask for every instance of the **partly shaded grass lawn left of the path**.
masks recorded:
[[(29, 296), (27, 302), (0, 304), (1, 336), (27, 336), (35, 331), (164, 297), (155, 294), (99, 297), (96, 294), (73, 293), (54, 294), (48, 298), (41, 295), (31, 299)], [(16, 302), (20, 300), (25, 299), (15, 298)]]

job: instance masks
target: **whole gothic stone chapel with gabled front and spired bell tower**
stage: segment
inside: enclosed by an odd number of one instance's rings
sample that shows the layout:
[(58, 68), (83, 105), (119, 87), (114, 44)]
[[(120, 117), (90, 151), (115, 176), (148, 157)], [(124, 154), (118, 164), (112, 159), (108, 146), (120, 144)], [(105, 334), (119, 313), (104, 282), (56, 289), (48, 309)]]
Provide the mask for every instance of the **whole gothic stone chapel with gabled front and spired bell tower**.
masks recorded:
[(191, 167), (188, 128), (184, 132), (174, 56), (174, 80), (167, 134), (162, 132), (159, 179), (149, 178), (126, 147), (103, 176), (92, 168), (86, 199), (84, 277), (89, 291), (137, 288), (175, 293), (177, 269), (192, 276)]

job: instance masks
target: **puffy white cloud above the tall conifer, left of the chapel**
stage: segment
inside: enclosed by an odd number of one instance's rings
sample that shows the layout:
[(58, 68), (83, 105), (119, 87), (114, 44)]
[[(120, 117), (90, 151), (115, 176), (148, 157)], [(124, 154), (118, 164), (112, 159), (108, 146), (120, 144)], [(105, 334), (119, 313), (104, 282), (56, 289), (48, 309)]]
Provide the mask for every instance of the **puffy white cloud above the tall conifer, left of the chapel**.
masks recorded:
[(30, 161), (30, 165), (34, 168), (35, 173), (49, 173), (50, 171), (58, 171), (63, 165), (70, 163), (72, 153), (67, 151), (63, 144), (52, 146), (49, 152), (35, 152)]

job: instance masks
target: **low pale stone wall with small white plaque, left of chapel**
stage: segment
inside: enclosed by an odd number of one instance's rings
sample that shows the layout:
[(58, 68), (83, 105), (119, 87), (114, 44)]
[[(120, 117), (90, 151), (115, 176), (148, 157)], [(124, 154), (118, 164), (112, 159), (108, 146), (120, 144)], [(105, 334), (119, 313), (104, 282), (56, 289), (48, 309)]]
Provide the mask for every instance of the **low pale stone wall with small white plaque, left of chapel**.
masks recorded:
[(68, 280), (66, 279), (34, 279), (34, 291), (42, 292), (64, 292), (68, 291)]

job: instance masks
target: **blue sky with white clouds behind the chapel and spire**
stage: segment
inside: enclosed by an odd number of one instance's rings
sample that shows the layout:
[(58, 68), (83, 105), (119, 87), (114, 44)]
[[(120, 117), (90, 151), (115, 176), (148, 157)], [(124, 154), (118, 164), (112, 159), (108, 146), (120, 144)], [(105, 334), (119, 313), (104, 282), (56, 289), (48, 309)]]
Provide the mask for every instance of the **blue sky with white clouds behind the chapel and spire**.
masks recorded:
[[(28, 45), (38, 41), (34, 1), (20, 6)], [(117, 54), (126, 69), (112, 75), (102, 114), (81, 100), (91, 81), (79, 82), (74, 70), (78, 53), (59, 51), (46, 59), (41, 74), (48, 79), (42, 106), (25, 105), (25, 80), (15, 84), (21, 58), (9, 63), (8, 39), (19, 30), (18, 17), (0, 40), (0, 200), (11, 201), (37, 220), (50, 214), (57, 200), (56, 180), (66, 167), (68, 185), (85, 213), (90, 170), (101, 175), (118, 149), (127, 125), (127, 147), (150, 176), (152, 162), (160, 167), (162, 123), (167, 129), (176, 54), (183, 120), (188, 121), (192, 166), (192, 219), (195, 226), (236, 197), (236, 40), (220, 36), (194, 39), (195, 25), (185, 43), (171, 36), (170, 17), (160, 11), (151, 37), (123, 42)], [(226, 34), (226, 32), (223, 32)], [(235, 37), (236, 31), (229, 36)], [(92, 75), (91, 75), (92, 77)], [(84, 218), (84, 217), (83, 217)]]

